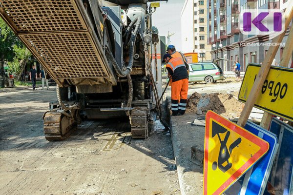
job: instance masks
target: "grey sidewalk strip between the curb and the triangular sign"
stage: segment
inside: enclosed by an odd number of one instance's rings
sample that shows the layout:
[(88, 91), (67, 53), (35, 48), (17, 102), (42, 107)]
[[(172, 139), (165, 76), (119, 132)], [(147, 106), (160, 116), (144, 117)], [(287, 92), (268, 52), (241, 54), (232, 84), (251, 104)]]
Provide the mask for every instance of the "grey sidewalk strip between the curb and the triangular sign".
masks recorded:
[[(167, 105), (170, 109), (169, 98)], [(192, 163), (191, 146), (204, 150), (205, 127), (191, 125), (195, 117), (189, 113), (170, 116), (170, 133), (182, 195), (203, 194), (203, 166)]]

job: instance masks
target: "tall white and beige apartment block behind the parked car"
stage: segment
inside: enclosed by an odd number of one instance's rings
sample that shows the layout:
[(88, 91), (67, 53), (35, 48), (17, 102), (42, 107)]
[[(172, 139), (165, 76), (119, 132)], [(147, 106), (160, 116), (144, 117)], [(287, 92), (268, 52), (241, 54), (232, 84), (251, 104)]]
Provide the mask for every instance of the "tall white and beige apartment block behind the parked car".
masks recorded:
[(211, 61), (207, 3), (207, 0), (185, 0), (181, 11), (182, 52), (198, 53), (199, 61)]

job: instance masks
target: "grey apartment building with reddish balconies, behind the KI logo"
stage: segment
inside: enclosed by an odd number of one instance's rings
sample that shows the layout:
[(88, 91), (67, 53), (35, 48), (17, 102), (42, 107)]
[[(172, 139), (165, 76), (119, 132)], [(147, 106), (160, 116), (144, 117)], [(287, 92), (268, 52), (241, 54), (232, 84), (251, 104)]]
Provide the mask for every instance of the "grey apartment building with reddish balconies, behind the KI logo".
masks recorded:
[[(209, 44), (212, 59), (223, 58), (220, 65), (225, 71), (231, 70), (234, 60), (238, 59), (241, 71), (245, 71), (249, 63), (261, 63), (269, 50), (269, 45), (246, 43), (271, 43), (269, 36), (247, 36), (240, 32), (240, 12), (245, 9), (286, 9), (289, 0), (208, 0), (207, 9), (210, 10), (211, 25), (209, 30)], [(287, 32), (282, 43), (288, 37)], [(283, 48), (276, 54), (277, 62), (281, 59)], [(292, 66), (292, 59), (289, 67)]]

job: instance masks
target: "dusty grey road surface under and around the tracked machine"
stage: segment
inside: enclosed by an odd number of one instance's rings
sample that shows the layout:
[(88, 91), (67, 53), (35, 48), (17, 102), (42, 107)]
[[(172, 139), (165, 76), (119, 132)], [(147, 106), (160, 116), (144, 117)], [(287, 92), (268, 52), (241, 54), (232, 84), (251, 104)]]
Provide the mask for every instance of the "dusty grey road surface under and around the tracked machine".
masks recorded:
[(49, 142), (42, 114), (56, 91), (0, 93), (1, 195), (179, 195), (169, 135), (132, 139), (127, 121), (84, 121)]

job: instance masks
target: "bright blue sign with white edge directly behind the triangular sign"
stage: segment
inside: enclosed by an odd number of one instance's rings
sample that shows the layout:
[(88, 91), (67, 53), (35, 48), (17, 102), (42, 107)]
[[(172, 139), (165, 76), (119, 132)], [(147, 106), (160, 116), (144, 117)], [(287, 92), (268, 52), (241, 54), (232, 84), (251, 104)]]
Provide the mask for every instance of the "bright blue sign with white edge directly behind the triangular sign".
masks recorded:
[(248, 121), (245, 129), (261, 137), (270, 144), (268, 153), (263, 156), (245, 175), (240, 177), (224, 195), (263, 195), (272, 169), (277, 150), (277, 137), (264, 128)]

